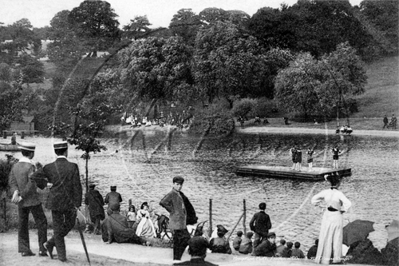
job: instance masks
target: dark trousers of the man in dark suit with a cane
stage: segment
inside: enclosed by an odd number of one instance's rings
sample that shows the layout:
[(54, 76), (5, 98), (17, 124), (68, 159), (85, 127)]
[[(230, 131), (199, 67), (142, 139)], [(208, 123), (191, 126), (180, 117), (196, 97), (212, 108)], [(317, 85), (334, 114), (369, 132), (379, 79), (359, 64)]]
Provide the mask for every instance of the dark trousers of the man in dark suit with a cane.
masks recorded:
[(66, 260), (64, 237), (72, 230), (76, 222), (76, 210), (52, 210), (54, 235), (48, 243), (55, 245), (59, 260)]

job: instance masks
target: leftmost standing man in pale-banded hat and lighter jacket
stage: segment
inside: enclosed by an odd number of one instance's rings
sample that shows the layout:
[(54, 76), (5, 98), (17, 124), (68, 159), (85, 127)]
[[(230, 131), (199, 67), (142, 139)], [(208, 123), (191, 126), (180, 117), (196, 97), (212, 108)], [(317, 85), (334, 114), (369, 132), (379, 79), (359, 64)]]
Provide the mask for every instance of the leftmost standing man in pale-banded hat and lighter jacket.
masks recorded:
[(47, 256), (43, 244), (47, 241), (47, 219), (43, 212), (40, 195), (35, 181), (30, 177), (35, 171), (32, 158), (35, 144), (23, 143), (20, 146), (22, 158), (13, 165), (9, 174), (11, 201), (18, 204), (18, 252), (25, 256), (34, 256), (29, 246), (29, 213), (32, 213), (39, 239), (39, 256)]

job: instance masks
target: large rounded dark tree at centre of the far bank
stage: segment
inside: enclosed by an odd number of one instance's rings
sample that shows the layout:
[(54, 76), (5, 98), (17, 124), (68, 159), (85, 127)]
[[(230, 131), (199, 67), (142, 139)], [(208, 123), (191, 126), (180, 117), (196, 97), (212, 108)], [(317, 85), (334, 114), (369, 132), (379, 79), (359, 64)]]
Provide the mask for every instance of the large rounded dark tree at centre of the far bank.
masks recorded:
[(196, 37), (193, 72), (203, 97), (212, 102), (245, 97), (259, 89), (266, 73), (265, 57), (255, 38), (231, 22), (216, 22)]

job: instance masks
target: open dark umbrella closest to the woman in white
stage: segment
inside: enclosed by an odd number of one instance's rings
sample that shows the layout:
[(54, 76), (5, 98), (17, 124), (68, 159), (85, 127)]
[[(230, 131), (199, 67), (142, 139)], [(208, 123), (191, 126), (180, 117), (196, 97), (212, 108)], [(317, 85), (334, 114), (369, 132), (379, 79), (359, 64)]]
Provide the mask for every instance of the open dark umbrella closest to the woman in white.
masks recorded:
[(344, 227), (343, 243), (347, 246), (365, 240), (370, 232), (374, 231), (374, 222), (365, 220), (356, 220), (348, 223)]

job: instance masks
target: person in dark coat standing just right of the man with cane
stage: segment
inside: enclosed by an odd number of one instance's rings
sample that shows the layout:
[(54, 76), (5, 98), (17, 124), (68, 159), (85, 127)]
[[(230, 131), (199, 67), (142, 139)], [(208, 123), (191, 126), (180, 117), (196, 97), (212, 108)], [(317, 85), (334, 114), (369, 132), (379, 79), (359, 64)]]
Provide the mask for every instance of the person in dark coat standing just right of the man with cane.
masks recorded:
[(85, 195), (85, 204), (89, 206), (90, 219), (94, 223), (94, 234), (100, 234), (100, 222), (104, 220), (104, 200), (100, 192), (95, 189), (96, 185), (90, 184), (90, 190)]

